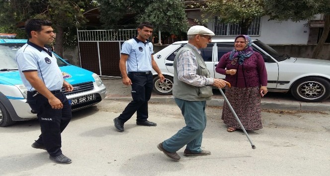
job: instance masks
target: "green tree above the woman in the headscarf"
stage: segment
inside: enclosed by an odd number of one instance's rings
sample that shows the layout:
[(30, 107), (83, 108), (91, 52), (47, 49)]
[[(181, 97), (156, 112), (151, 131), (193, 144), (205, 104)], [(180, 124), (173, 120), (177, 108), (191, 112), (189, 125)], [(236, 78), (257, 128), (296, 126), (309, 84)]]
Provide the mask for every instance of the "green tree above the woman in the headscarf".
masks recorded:
[(208, 0), (205, 4), (190, 5), (202, 8), (203, 22), (214, 20), (214, 16), (218, 16), (221, 22), (239, 23), (241, 34), (248, 34), (254, 18), (266, 14), (264, 0)]

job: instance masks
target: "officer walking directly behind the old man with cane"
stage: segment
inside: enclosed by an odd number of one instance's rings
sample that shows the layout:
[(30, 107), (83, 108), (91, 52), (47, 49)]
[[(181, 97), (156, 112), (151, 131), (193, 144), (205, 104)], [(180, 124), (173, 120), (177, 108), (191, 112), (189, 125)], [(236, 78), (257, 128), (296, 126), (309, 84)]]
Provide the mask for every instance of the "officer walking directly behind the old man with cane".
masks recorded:
[[(153, 90), (154, 69), (161, 82), (165, 80), (162, 72), (154, 60), (154, 47), (148, 38), (153, 33), (153, 25), (150, 22), (142, 22), (138, 26), (138, 36), (123, 43), (119, 68), (124, 85), (131, 85), (133, 100), (124, 111), (115, 119), (114, 125), (120, 132), (124, 131), (124, 123), (137, 112), (137, 125), (157, 126), (148, 118), (148, 101)], [(127, 65), (127, 67), (126, 67)]]

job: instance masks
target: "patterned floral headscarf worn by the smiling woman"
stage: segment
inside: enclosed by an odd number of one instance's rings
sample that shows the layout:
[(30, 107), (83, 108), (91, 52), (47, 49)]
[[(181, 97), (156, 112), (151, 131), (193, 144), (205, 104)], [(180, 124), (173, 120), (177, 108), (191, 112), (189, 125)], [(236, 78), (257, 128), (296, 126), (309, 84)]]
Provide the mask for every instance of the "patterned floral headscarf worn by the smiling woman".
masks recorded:
[[(234, 59), (237, 61), (239, 61), (239, 64), (242, 65), (244, 60), (249, 58), (252, 54), (253, 54), (253, 49), (251, 47), (252, 45), (252, 41), (251, 38), (248, 35), (239, 35), (235, 38), (235, 41), (237, 40), (237, 38), (239, 37), (244, 37), (245, 41), (246, 41), (246, 45), (245, 48), (242, 51), (237, 51), (235, 48), (233, 49), (233, 51), (230, 53), (229, 59), (231, 61), (233, 61)], [(233, 62), (232, 62), (233, 63)], [(236, 63), (236, 62), (234, 62)], [(235, 65), (235, 64), (233, 64)]]

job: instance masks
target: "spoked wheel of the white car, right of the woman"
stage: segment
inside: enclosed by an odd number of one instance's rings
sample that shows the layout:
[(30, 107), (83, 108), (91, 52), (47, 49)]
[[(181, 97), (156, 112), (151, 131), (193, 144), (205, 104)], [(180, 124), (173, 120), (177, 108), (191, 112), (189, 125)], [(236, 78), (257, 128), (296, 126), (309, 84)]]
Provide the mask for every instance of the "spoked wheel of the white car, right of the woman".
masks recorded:
[(318, 77), (302, 78), (294, 83), (291, 93), (300, 101), (320, 102), (329, 98), (330, 83)]

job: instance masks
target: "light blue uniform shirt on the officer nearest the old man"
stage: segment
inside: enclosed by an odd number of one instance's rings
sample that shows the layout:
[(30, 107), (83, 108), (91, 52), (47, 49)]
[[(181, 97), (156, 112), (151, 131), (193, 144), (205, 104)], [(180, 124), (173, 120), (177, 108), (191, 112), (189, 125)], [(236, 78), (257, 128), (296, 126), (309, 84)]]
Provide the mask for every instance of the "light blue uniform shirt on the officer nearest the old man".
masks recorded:
[(154, 54), (154, 46), (149, 40), (146, 43), (136, 37), (127, 40), (121, 46), (120, 54), (128, 55), (127, 72), (148, 72), (153, 69), (151, 55)]

